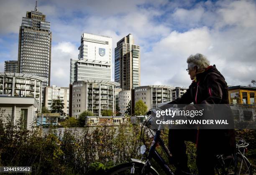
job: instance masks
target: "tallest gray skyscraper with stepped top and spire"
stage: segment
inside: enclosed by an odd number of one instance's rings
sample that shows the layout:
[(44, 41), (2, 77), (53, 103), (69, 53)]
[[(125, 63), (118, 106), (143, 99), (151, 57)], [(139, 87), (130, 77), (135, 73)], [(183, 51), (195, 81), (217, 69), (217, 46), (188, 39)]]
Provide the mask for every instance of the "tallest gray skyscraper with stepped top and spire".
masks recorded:
[(19, 33), (18, 72), (47, 79), (43, 86), (50, 86), (51, 30), (46, 15), (38, 11), (26, 13)]

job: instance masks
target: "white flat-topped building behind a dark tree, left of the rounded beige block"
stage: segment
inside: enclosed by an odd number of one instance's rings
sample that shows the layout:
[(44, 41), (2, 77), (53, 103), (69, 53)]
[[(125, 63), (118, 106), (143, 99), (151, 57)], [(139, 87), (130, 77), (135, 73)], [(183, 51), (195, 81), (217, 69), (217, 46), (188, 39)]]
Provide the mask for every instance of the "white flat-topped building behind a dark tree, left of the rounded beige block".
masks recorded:
[(51, 111), (53, 100), (60, 100), (64, 104), (63, 111), (69, 114), (69, 87), (46, 86), (44, 90), (44, 106)]

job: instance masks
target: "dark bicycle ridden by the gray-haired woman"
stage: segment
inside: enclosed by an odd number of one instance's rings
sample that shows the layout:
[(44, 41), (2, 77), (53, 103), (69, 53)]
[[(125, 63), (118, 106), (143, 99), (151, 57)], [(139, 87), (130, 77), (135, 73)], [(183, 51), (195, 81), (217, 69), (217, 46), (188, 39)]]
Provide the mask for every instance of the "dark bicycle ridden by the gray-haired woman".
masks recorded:
[[(152, 116), (151, 116), (152, 117)], [(159, 172), (151, 166), (151, 160), (154, 159), (164, 170), (167, 175), (175, 175), (175, 172), (167, 165), (164, 158), (161, 157), (159, 152), (156, 150), (156, 146), (159, 145), (161, 149), (164, 151), (168, 160), (172, 159), (172, 155), (170, 154), (168, 148), (164, 144), (164, 141), (161, 139), (161, 125), (154, 132), (148, 126), (148, 121), (150, 121), (150, 117), (145, 119), (145, 122), (141, 124), (141, 141), (144, 145), (141, 146), (141, 155), (142, 159), (133, 159), (131, 158), (131, 162), (123, 163), (112, 167), (107, 171), (108, 175), (129, 175), (129, 174), (145, 174), (145, 175), (159, 175)], [(154, 139), (151, 143), (150, 148), (146, 147), (145, 143), (145, 129), (148, 128), (152, 135), (154, 135)], [(144, 132), (143, 132), (144, 129)], [(217, 162), (215, 165), (215, 172), (218, 175), (253, 175), (251, 163), (245, 157), (246, 147), (249, 145), (245, 142), (244, 139), (236, 137), (238, 139), (238, 143), (236, 144), (236, 152), (233, 155), (217, 155)], [(146, 154), (148, 152), (148, 154)], [(143, 161), (143, 157), (146, 156), (145, 161)], [(175, 165), (174, 165), (175, 166)], [(186, 172), (183, 174), (192, 175)]]

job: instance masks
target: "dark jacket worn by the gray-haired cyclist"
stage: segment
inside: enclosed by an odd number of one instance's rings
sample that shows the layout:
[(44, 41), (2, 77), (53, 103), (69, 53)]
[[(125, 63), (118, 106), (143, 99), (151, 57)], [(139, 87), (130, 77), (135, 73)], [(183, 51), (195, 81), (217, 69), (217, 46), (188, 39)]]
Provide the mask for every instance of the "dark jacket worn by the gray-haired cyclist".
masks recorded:
[[(228, 86), (215, 65), (196, 75), (189, 89), (169, 104), (229, 104)], [(234, 129), (199, 129), (197, 151), (211, 150), (216, 154), (229, 154), (235, 150)]]

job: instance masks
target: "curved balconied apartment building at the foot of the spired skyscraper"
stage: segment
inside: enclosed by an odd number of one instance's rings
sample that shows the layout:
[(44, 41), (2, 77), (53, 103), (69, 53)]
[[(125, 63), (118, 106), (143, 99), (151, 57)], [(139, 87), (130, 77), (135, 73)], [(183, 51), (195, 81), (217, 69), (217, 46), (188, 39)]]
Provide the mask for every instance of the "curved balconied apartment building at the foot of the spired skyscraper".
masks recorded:
[(43, 82), (41, 76), (21, 73), (0, 73), (0, 96), (33, 97), (41, 110)]

